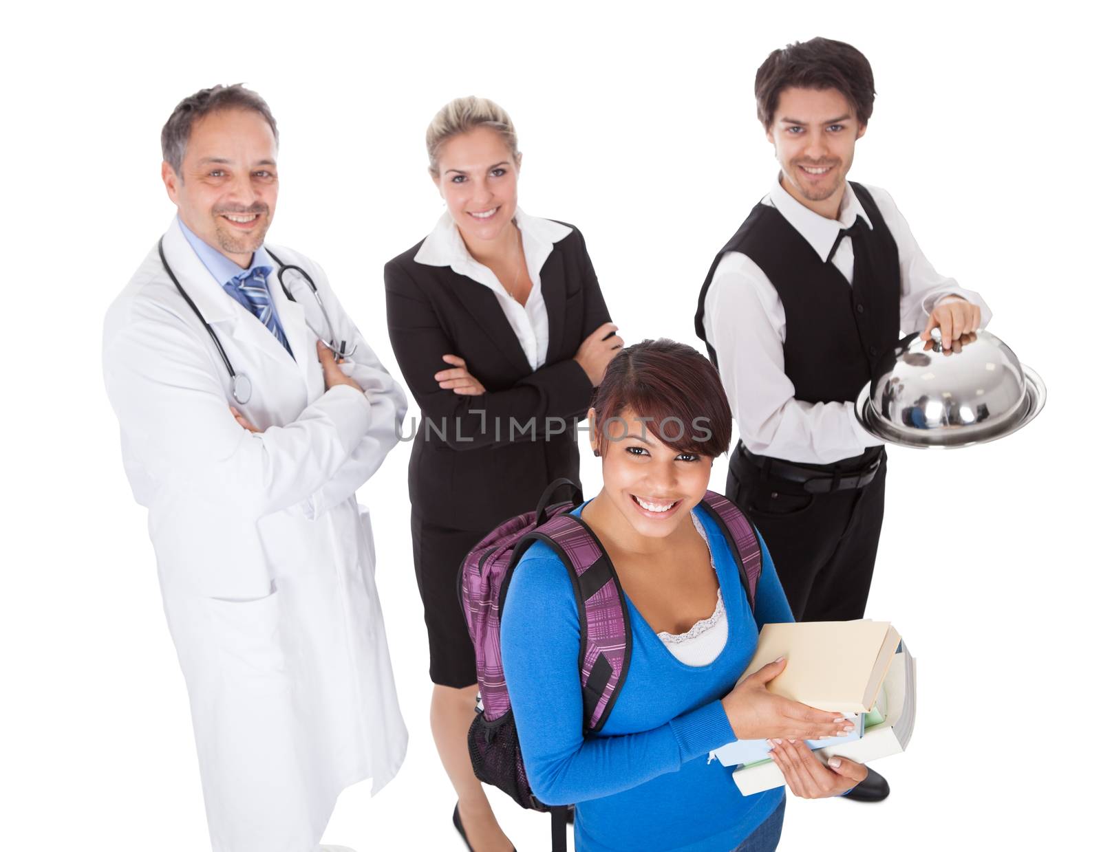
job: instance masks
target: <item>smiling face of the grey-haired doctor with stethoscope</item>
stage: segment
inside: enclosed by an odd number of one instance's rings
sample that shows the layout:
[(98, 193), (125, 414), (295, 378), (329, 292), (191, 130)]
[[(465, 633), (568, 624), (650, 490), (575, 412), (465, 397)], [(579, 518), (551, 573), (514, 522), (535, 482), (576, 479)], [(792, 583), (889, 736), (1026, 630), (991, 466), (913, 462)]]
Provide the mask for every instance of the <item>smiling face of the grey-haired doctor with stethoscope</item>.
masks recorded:
[(264, 242), (275, 215), (275, 135), (259, 112), (226, 109), (192, 125), (181, 174), (161, 176), (193, 233), (242, 269)]

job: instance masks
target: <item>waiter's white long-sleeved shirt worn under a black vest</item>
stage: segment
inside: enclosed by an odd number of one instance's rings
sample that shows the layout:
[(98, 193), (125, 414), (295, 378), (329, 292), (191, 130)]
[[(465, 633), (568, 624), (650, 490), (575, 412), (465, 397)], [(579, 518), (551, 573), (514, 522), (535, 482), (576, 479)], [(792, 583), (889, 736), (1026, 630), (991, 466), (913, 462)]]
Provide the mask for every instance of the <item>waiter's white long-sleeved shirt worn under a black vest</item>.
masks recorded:
[[(874, 186), (866, 188), (898, 245), (902, 332), (923, 330), (928, 314), (946, 296), (962, 296), (978, 305), (982, 312), (981, 325), (985, 326), (990, 308), (982, 297), (933, 269), (891, 196)], [(762, 204), (775, 207), (824, 263), (838, 231), (851, 227), (858, 216), (872, 228), (848, 184), (837, 219), (827, 219), (804, 207), (781, 186), (778, 176)], [(851, 285), (851, 238), (841, 240), (832, 263)], [(716, 267), (704, 302), (704, 332), (716, 351), (738, 432), (751, 452), (793, 462), (828, 465), (859, 456), (866, 447), (883, 443), (861, 428), (853, 403), (809, 403), (795, 398), (795, 385), (784, 373), (784, 304), (761, 267), (745, 254), (729, 252)]]

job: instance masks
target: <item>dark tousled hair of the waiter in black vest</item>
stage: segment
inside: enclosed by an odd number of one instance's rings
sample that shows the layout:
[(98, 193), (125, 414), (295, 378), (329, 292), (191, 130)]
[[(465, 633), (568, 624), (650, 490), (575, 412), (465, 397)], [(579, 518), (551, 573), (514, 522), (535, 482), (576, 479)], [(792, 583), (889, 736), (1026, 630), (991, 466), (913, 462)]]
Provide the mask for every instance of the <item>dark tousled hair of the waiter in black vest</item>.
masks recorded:
[(770, 53), (753, 83), (757, 118), (765, 130), (772, 127), (781, 92), (788, 88), (837, 89), (857, 111), (857, 121), (866, 124), (872, 117), (872, 66), (851, 44), (818, 37)]

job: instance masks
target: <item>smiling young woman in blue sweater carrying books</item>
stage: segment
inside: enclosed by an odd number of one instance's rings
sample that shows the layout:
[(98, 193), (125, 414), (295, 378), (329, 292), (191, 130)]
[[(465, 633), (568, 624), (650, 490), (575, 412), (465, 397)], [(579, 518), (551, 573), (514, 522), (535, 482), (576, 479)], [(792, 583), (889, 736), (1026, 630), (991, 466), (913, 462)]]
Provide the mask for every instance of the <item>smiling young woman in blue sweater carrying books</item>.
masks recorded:
[[(589, 424), (600, 493), (554, 518), (575, 525), (566, 535), (539, 527), (552, 534), (503, 589), (512, 718), (500, 721), (514, 721), (522, 774), (538, 804), (576, 804), (578, 852), (774, 850), (783, 788), (743, 797), (710, 751), (773, 739), (788, 786), (808, 798), (843, 794), (866, 769), (810, 756), (803, 740), (849, 723), (768, 692), (782, 659), (734, 687), (760, 626), (793, 619), (764, 544), (707, 490), (731, 439), (719, 375), (685, 345), (632, 346), (609, 364)], [(579, 540), (599, 551), (584, 572)], [(597, 568), (610, 582), (589, 579)], [(593, 607), (601, 594), (610, 604)]]

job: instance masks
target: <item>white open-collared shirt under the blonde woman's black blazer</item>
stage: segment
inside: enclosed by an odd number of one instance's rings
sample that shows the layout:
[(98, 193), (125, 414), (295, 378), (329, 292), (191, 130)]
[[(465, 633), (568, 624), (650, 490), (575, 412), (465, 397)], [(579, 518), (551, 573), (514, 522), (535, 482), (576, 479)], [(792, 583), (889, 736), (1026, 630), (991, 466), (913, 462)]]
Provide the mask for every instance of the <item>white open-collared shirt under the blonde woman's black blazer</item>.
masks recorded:
[(462, 241), (462, 234), (459, 233), (459, 228), (449, 212), (439, 217), (436, 227), (425, 238), (413, 260), (426, 266), (450, 266), (459, 275), (484, 284), (493, 291), (534, 372), (546, 363), (549, 339), (547, 306), (543, 301), (539, 270), (554, 251), (554, 244), (573, 229), (549, 219), (527, 216), (519, 207), (513, 221), (520, 229), (527, 275), (532, 280), (532, 292), (523, 305), (509, 295), (489, 266), (479, 263), (470, 255)]

